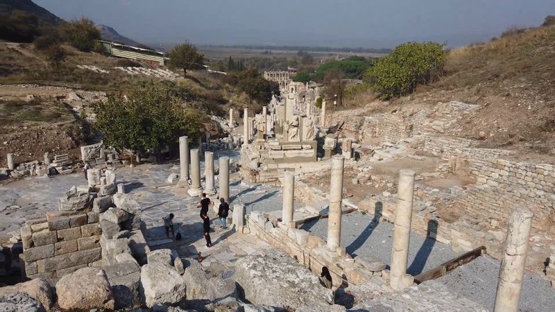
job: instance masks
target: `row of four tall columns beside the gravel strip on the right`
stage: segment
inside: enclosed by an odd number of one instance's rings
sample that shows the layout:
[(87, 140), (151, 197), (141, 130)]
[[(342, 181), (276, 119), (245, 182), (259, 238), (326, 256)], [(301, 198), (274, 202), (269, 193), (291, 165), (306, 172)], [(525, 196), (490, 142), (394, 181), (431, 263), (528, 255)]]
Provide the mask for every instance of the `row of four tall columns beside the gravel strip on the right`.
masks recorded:
[[(327, 225), (327, 249), (339, 252), (341, 246), (341, 201), (343, 199), (344, 157), (332, 157), (330, 181), (330, 214)], [(413, 277), (407, 275), (411, 219), (416, 173), (403, 169), (399, 172), (398, 200), (395, 209), (393, 247), (391, 250), (391, 271), (389, 285), (396, 291), (413, 284)], [(293, 198), (295, 177), (285, 172), (283, 177), (282, 223), (293, 224)], [(527, 209), (517, 209), (509, 219), (506, 238), (506, 252), (499, 271), (495, 312), (518, 311), (522, 277), (526, 264), (529, 235), (533, 214)]]

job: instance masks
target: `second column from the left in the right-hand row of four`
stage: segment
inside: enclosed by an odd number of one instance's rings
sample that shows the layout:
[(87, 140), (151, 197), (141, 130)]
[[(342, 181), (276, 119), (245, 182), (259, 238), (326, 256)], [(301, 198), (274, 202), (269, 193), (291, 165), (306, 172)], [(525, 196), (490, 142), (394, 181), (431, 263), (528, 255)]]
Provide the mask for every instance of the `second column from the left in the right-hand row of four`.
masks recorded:
[(330, 181), (330, 214), (327, 219), (327, 249), (336, 251), (341, 245), (341, 200), (343, 200), (343, 164), (341, 155), (332, 157)]

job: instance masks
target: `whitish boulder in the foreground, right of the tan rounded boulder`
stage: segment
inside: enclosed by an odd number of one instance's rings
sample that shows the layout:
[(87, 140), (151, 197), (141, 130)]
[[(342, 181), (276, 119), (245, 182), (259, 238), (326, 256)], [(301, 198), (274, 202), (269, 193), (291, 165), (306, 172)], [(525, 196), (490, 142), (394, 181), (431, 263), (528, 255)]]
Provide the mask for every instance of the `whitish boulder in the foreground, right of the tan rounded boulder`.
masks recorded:
[(146, 264), (141, 268), (141, 284), (148, 308), (157, 303), (177, 304), (185, 299), (185, 279), (163, 264)]

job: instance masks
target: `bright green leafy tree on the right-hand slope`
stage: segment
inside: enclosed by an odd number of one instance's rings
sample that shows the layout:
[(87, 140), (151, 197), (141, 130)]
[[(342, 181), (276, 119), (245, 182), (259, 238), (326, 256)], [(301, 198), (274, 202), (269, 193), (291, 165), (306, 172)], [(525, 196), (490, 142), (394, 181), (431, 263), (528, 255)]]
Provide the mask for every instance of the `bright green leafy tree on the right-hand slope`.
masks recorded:
[(426, 84), (443, 71), (445, 44), (407, 42), (391, 54), (380, 58), (366, 71), (367, 83), (388, 99), (413, 92), (418, 84)]

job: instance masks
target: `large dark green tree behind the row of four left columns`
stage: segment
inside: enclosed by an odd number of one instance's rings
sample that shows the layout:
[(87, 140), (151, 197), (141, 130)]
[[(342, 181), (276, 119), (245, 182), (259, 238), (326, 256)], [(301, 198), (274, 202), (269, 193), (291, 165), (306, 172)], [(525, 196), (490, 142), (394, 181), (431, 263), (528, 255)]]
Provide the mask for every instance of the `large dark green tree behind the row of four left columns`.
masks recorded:
[(132, 90), (128, 99), (110, 94), (108, 101), (94, 105), (94, 127), (103, 133), (107, 144), (139, 154), (176, 146), (182, 135), (195, 141), (200, 136), (202, 116), (181, 103), (164, 85), (143, 85)]

